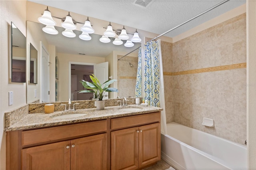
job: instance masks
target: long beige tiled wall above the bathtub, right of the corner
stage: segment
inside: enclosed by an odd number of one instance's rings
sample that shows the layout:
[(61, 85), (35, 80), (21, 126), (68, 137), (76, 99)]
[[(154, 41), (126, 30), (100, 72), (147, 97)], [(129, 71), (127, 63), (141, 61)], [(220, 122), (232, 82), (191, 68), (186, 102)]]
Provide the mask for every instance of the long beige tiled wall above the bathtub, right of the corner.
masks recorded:
[(174, 122), (244, 144), (246, 14), (173, 43), (173, 65)]

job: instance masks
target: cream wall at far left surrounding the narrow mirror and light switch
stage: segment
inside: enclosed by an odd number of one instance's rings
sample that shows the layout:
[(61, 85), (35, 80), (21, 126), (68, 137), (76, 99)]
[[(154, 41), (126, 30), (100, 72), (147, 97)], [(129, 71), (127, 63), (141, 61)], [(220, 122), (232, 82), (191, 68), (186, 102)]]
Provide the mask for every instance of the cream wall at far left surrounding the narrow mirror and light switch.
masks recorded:
[[(9, 83), (10, 25), (13, 22), (26, 37), (26, 1), (0, 1), (0, 169), (6, 169), (6, 133), (4, 113), (26, 104), (26, 83)], [(13, 105), (8, 105), (8, 91)]]

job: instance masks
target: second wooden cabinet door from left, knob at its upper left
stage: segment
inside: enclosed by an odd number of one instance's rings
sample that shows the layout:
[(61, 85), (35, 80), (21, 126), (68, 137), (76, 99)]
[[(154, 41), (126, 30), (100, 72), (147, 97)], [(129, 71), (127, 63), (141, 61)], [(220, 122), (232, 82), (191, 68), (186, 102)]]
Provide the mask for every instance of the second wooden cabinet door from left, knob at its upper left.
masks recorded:
[(107, 169), (107, 134), (71, 140), (71, 170)]

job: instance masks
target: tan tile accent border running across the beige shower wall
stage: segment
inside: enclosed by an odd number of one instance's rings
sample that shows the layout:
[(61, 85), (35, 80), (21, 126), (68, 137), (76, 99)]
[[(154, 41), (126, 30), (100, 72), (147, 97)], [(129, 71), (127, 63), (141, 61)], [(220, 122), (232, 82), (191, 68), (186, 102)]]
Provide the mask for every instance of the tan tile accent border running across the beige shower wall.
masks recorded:
[(185, 74), (195, 74), (195, 73), (205, 73), (213, 71), (223, 71), (223, 70), (232, 70), (232, 69), (241, 69), (246, 68), (246, 63), (232, 64), (232, 65), (222, 65), (217, 67), (208, 67), (203, 69), (194, 69), (188, 71), (178, 71), (178, 72), (164, 72), (164, 75), (185, 75)]

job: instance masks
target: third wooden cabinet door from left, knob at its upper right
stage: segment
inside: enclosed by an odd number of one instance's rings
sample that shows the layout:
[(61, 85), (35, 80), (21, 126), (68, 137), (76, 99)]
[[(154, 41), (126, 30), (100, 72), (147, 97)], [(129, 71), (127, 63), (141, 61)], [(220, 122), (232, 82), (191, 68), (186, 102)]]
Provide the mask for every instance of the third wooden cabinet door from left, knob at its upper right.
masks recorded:
[(138, 127), (111, 132), (111, 170), (138, 168)]

